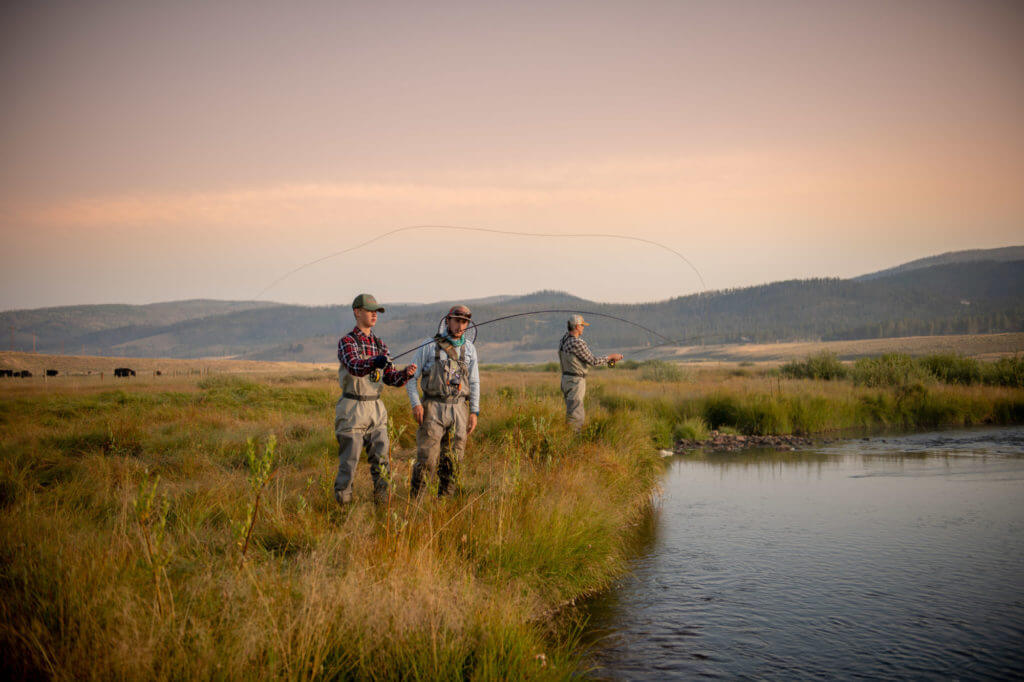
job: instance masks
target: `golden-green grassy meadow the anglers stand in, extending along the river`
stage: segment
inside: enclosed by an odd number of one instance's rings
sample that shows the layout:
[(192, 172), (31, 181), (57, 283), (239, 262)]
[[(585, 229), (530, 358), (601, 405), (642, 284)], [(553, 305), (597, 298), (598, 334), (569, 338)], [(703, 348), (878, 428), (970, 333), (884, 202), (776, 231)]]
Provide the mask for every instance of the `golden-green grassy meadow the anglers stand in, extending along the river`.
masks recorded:
[(5, 677), (586, 675), (573, 605), (627, 570), (657, 449), (712, 429), (1024, 422), (1011, 386), (648, 363), (592, 374), (577, 435), (557, 373), (535, 370), (483, 372), (452, 498), (410, 503), (414, 422), (387, 391), (391, 500), (374, 507), (364, 462), (345, 510), (334, 375), (0, 387)]

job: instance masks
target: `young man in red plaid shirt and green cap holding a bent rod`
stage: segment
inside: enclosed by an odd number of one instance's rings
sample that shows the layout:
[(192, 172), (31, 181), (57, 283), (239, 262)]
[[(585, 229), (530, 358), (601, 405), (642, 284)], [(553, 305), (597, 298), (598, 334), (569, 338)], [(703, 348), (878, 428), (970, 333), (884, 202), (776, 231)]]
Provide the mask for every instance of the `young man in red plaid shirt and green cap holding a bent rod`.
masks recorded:
[(374, 481), (374, 502), (387, 501), (387, 410), (380, 392), (384, 384), (403, 386), (416, 373), (415, 365), (402, 370), (391, 365), (387, 344), (373, 331), (379, 312), (384, 312), (384, 308), (376, 298), (370, 294), (356, 296), (352, 301), (355, 328), (338, 341), (341, 397), (334, 412), (334, 433), (338, 438), (334, 498), (340, 505), (352, 501), (352, 476), (364, 447)]

